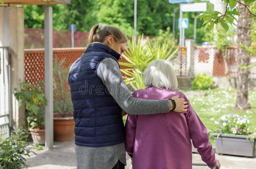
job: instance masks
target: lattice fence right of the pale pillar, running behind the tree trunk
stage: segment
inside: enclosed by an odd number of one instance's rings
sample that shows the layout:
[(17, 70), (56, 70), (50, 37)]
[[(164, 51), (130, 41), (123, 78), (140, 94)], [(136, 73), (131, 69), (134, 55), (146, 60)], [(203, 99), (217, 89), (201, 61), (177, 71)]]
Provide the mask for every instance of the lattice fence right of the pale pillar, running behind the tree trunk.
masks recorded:
[[(238, 48), (227, 47), (223, 53), (216, 47), (197, 46), (194, 50), (194, 75), (206, 73), (209, 76), (227, 76), (234, 78), (238, 73)], [(251, 57), (251, 65), (256, 57)], [(256, 78), (256, 67), (250, 69), (249, 78)]]

